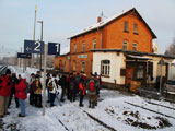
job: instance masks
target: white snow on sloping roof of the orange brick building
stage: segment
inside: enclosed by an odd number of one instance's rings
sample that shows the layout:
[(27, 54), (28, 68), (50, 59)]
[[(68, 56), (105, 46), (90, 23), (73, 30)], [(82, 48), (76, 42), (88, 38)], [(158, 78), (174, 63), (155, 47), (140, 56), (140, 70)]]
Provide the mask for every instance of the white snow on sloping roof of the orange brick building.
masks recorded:
[(72, 35), (70, 38), (72, 38), (72, 37), (74, 37), (74, 36), (78, 36), (78, 35), (80, 35), (80, 34), (84, 34), (84, 33), (86, 33), (86, 32), (90, 32), (90, 31), (92, 31), (92, 29), (100, 28), (100, 27), (106, 25), (107, 23), (109, 23), (110, 21), (113, 21), (113, 20), (121, 16), (121, 15), (125, 14), (126, 12), (128, 12), (128, 11), (130, 11), (130, 10), (133, 10), (133, 9), (135, 9), (135, 8), (129, 9), (129, 10), (124, 11), (124, 12), (121, 12), (121, 13), (119, 13), (119, 14), (116, 14), (116, 15), (114, 15), (114, 16), (112, 16), (112, 17), (108, 17), (108, 19), (106, 19), (106, 20), (104, 20), (104, 21), (102, 21), (102, 22), (98, 22), (98, 23), (96, 23), (96, 24), (93, 24), (93, 25), (91, 25), (91, 26), (82, 29), (81, 32)]

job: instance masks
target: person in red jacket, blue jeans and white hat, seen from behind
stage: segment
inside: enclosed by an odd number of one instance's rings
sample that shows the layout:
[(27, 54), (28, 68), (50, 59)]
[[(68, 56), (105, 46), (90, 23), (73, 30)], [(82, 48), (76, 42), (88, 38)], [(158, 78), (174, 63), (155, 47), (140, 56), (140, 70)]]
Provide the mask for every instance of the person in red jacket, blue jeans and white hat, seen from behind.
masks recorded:
[(27, 98), (26, 93), (26, 76), (25, 74), (19, 74), (19, 83), (15, 85), (15, 97), (19, 98), (21, 114), (19, 117), (25, 117), (25, 104), (24, 100)]

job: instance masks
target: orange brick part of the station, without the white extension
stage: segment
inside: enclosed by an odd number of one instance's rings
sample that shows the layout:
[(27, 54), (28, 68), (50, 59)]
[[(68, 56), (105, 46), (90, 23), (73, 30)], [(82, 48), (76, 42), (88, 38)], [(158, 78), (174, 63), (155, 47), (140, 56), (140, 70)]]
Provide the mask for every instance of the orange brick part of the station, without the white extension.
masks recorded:
[(152, 53), (152, 39), (156, 38), (139, 12), (126, 12), (91, 25), (70, 37), (70, 53), (55, 58), (55, 67), (65, 72), (93, 72), (95, 49), (121, 49)]

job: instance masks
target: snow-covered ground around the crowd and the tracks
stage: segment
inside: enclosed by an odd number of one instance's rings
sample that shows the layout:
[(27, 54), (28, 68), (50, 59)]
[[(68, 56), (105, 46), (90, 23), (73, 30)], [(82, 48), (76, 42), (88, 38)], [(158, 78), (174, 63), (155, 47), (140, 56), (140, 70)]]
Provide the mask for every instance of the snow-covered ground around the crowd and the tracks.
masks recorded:
[[(23, 71), (18, 67), (9, 68), (16, 73), (22, 73)], [(27, 68), (27, 78), (30, 78), (31, 73), (36, 73), (36, 69)], [(83, 102), (84, 107), (81, 108), (78, 100), (74, 103), (66, 100), (62, 103), (62, 106), (59, 106), (56, 99), (55, 104), (57, 106), (50, 108), (47, 105), (45, 116), (43, 116), (42, 108), (35, 108), (26, 100), (25, 118), (18, 117), (20, 109), (15, 108), (13, 100), (9, 109), (10, 115), (0, 120), (0, 129), (3, 127), (3, 129), (9, 131), (13, 129), (19, 129), (20, 131), (110, 131), (103, 124), (105, 123), (117, 131), (175, 131), (175, 104), (147, 99), (135, 95), (124, 95), (118, 91), (107, 90), (101, 91), (100, 99), (95, 109), (88, 107), (89, 102), (86, 97)], [(172, 109), (150, 104), (150, 102), (171, 107)], [(155, 112), (128, 103), (154, 110)], [(101, 122), (92, 119), (86, 112)], [(161, 128), (165, 123), (161, 123), (162, 119), (168, 121), (172, 126)]]

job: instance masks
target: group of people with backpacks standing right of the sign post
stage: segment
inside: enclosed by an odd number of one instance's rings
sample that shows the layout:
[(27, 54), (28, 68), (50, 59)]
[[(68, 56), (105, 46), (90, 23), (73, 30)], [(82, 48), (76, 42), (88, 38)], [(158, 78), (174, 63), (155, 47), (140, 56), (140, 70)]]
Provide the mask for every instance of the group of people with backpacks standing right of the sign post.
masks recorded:
[(77, 97), (79, 96), (79, 106), (83, 107), (83, 98), (85, 95), (88, 95), (90, 104), (89, 107), (94, 108), (97, 106), (101, 85), (101, 76), (98, 76), (97, 73), (94, 75), (91, 74), (90, 78), (88, 78), (85, 74), (80, 75), (79, 73), (75, 75), (72, 73), (59, 74), (59, 79), (57, 79), (56, 74), (52, 74), (51, 78), (51, 75), (48, 73), (46, 80), (48, 92), (47, 103), (50, 103), (50, 107), (55, 106), (55, 98), (59, 94), (58, 88), (61, 87), (60, 102), (65, 102), (66, 96), (70, 102), (75, 102)]

